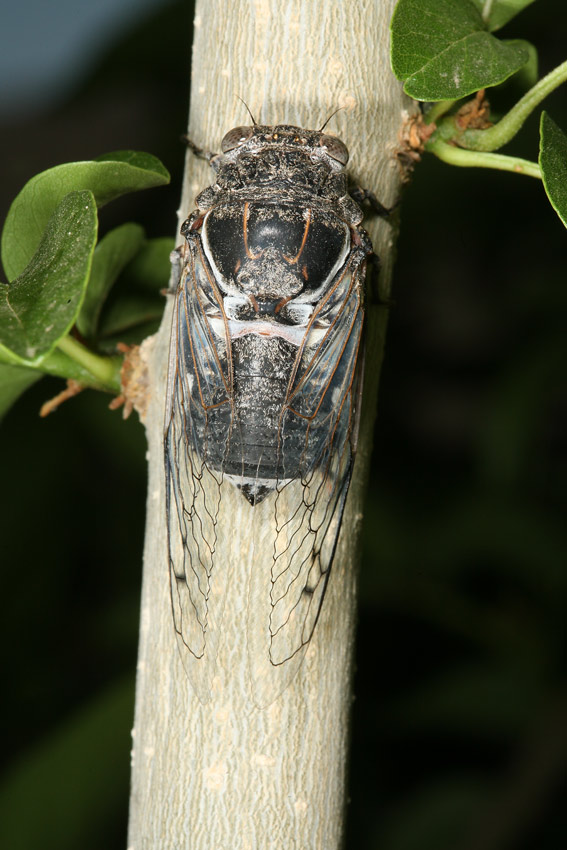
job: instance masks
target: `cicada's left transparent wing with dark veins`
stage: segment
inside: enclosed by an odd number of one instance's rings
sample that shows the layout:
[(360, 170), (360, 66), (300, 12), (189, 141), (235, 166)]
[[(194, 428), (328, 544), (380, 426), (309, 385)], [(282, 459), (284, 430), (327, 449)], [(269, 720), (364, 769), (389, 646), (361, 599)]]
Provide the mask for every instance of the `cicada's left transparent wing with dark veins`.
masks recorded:
[(197, 241), (175, 296), (165, 477), (173, 619), (183, 664), (201, 702), (210, 699), (228, 580), (215, 564), (222, 456), (232, 427), (224, 326), (222, 302)]

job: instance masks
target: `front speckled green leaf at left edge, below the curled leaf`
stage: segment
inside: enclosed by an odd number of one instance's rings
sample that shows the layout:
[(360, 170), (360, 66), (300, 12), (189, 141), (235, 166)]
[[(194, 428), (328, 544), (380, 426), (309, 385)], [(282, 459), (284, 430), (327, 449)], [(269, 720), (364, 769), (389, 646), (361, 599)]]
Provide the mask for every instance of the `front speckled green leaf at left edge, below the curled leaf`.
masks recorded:
[(97, 237), (92, 192), (71, 192), (47, 222), (23, 274), (0, 285), (2, 359), (34, 363), (52, 351), (75, 322)]

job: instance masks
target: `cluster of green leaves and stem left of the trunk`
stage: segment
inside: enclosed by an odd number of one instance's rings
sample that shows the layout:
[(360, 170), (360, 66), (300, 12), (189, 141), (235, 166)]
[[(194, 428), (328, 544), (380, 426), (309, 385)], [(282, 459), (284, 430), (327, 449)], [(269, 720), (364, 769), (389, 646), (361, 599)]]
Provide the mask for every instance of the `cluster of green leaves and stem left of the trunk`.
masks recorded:
[(98, 210), (169, 174), (147, 153), (117, 151), (36, 175), (2, 232), (0, 415), (45, 374), (120, 388), (117, 342), (152, 333), (162, 313), (170, 239), (127, 223), (98, 239)]

